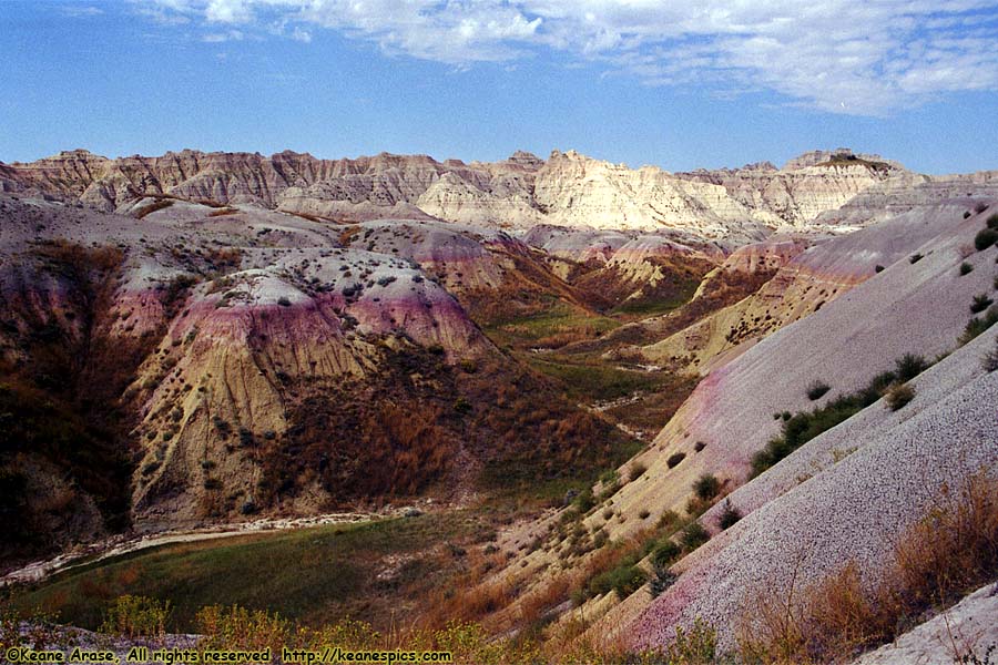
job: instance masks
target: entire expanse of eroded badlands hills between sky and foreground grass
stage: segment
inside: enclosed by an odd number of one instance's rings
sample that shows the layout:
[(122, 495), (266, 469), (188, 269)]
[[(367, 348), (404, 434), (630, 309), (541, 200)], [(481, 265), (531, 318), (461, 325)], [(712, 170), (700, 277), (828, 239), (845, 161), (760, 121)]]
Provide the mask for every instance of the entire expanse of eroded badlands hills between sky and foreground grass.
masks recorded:
[[(996, 202), (998, 172), (846, 150), (0, 164), (0, 554), (513, 492), (461, 592), (505, 602), (470, 618), (632, 649), (706, 622), (733, 652), (760, 593), (874, 587), (994, 480)], [(863, 662), (948, 658), (929, 618)]]

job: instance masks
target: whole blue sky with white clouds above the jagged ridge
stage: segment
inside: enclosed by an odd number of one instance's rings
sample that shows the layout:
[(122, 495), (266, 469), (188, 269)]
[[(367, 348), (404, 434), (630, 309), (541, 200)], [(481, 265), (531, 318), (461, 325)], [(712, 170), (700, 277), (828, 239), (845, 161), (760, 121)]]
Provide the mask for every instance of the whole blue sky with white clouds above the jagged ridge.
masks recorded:
[(0, 161), (552, 149), (671, 171), (851, 146), (998, 168), (978, 0), (0, 0)]

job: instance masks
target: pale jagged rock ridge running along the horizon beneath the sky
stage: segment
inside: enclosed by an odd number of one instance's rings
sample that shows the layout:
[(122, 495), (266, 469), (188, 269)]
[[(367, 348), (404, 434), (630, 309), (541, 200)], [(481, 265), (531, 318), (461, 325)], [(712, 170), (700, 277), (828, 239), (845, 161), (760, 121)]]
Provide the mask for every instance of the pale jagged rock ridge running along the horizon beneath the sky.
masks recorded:
[(385, 153), (319, 160), (293, 152), (266, 157), (191, 150), (110, 160), (77, 150), (2, 165), (0, 187), (79, 200), (106, 212), (154, 195), (342, 222), (439, 218), (518, 229), (553, 224), (744, 243), (781, 226), (855, 228), (885, 211), (912, 209), (959, 188), (986, 195), (998, 185), (988, 174), (921, 176), (844, 149), (807, 153), (780, 170), (761, 163), (675, 174), (574, 151), (553, 151), (546, 161), (518, 152), (500, 162), (466, 164)]

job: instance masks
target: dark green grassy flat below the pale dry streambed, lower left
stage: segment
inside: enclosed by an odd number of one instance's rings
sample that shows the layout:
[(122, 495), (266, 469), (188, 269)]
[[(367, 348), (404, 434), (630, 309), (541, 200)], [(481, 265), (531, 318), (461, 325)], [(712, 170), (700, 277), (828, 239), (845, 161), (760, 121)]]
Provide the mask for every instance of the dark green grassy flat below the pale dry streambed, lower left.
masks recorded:
[[(425, 551), (468, 539), (475, 526), (473, 515), (457, 512), (170, 544), (67, 571), (13, 602), (86, 628), (96, 628), (108, 603), (124, 594), (170, 601), (171, 630), (193, 628), (205, 605), (233, 603), (310, 624), (360, 613), (377, 623), (399, 595), (426, 597), (440, 583), (440, 562)], [(390, 554), (411, 560), (385, 586), (376, 575)]]

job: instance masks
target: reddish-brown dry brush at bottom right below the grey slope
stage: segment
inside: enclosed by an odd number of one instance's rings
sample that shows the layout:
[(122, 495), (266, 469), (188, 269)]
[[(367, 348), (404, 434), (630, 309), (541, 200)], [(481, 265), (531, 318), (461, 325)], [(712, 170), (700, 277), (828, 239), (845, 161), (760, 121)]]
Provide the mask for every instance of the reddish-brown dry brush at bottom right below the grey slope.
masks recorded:
[(804, 590), (763, 592), (743, 613), (742, 657), (826, 663), (893, 640), (931, 606), (955, 603), (998, 572), (998, 479), (977, 473), (946, 485), (928, 514), (898, 539), (885, 572), (864, 585), (855, 562)]

